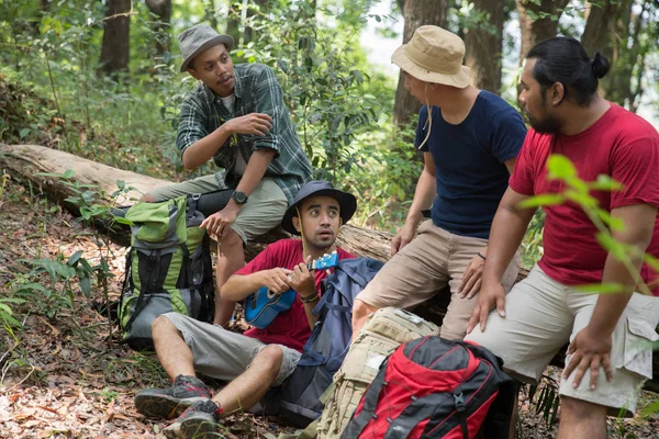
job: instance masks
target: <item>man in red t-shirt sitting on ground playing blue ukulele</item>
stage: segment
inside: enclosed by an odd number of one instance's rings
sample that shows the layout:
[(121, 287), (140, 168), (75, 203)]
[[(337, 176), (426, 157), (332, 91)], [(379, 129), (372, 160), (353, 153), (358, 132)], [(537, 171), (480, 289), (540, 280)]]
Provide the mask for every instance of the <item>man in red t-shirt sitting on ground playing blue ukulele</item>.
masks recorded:
[[(310, 271), (308, 263), (332, 251), (339, 260), (354, 257), (337, 248), (335, 240), (356, 207), (354, 195), (328, 182), (306, 183), (282, 219), (282, 227), (302, 239), (271, 244), (223, 285), (221, 295), (231, 301), (244, 300), (261, 286), (275, 293), (293, 289), (295, 302), (267, 328), (241, 335), (181, 314), (159, 316), (153, 324), (154, 345), (174, 385), (138, 392), (137, 410), (149, 417), (180, 415), (165, 436), (191, 438), (216, 431), (222, 414), (248, 409), (270, 386), (280, 385), (295, 369), (311, 335), (316, 322), (312, 311), (327, 275), (326, 270)], [(231, 382), (212, 397), (196, 372)]]

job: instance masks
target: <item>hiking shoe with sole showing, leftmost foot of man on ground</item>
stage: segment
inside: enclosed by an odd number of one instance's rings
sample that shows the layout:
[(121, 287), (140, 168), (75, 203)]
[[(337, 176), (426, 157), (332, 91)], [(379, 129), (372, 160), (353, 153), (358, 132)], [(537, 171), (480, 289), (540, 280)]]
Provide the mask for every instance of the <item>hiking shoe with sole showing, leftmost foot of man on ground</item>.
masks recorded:
[(135, 395), (135, 408), (149, 418), (171, 419), (188, 407), (213, 397), (209, 387), (194, 376), (178, 375), (171, 387), (146, 389)]

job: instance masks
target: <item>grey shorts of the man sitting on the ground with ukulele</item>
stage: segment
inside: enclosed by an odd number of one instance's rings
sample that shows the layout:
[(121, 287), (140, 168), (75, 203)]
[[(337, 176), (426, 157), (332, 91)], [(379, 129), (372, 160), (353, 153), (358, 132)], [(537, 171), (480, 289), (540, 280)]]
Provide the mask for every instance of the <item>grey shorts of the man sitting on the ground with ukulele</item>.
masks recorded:
[(211, 325), (177, 313), (165, 314), (183, 335), (186, 345), (192, 351), (194, 370), (206, 376), (223, 381), (235, 380), (244, 373), (254, 357), (266, 346), (278, 346), (283, 351), (279, 374), (272, 385), (280, 385), (289, 378), (300, 352), (283, 345), (266, 345), (256, 338), (232, 333), (220, 325)]

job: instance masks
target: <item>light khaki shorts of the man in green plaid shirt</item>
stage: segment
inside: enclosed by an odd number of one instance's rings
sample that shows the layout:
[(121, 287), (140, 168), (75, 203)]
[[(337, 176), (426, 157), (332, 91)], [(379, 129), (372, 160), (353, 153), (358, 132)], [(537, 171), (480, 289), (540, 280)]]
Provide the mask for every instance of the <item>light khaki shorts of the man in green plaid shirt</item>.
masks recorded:
[[(181, 195), (192, 193), (208, 193), (221, 188), (215, 176), (199, 177), (181, 183), (164, 185), (150, 191), (156, 201), (171, 200)], [(259, 181), (254, 192), (249, 195), (247, 203), (238, 212), (236, 221), (231, 228), (243, 243), (254, 240), (257, 236), (266, 234), (281, 223), (281, 218), (288, 209), (288, 200), (279, 184), (275, 180), (265, 177)]]

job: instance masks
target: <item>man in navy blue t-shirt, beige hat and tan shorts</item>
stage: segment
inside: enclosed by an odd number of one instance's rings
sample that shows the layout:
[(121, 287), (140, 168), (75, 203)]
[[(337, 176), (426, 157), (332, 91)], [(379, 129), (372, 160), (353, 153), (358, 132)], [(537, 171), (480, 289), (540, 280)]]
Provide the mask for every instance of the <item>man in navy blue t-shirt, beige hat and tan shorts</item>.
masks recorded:
[[(414, 142), (425, 165), (405, 224), (391, 243), (393, 257), (356, 297), (354, 335), (376, 309), (414, 307), (448, 284), (451, 300), (440, 335), (465, 337), (492, 218), (526, 127), (503, 99), (469, 85), (463, 56), (460, 37), (422, 26), (391, 58), (406, 75), (405, 88), (425, 105)], [(427, 209), (432, 221), (416, 230)], [(516, 255), (503, 277), (506, 291), (518, 270)]]

